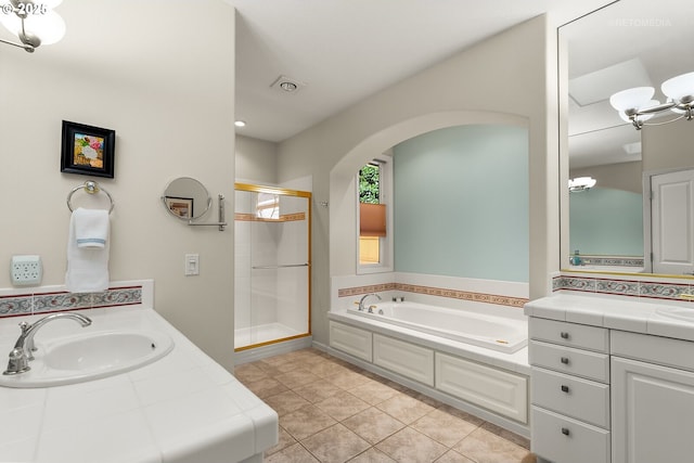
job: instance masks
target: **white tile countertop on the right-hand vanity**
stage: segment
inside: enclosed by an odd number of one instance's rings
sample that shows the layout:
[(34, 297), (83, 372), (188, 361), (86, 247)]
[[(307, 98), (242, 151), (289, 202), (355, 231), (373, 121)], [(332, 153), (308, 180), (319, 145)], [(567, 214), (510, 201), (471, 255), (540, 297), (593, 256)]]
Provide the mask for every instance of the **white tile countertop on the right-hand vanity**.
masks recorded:
[[(691, 320), (680, 320), (667, 316), (677, 310), (692, 310), (693, 317)], [(632, 301), (558, 293), (527, 303), (524, 311), (529, 317), (694, 340), (694, 304), (689, 301)]]

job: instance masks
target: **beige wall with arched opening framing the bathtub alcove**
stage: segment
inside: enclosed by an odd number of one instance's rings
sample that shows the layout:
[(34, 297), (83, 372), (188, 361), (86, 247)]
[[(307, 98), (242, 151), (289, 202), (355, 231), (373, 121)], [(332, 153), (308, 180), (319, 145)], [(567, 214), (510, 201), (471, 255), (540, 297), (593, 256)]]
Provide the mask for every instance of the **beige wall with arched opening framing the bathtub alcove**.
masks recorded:
[[(355, 268), (355, 195), (360, 163), (435, 128), (522, 121), (530, 143), (530, 297), (558, 269), (558, 130), (555, 26), (540, 16), (372, 95), (279, 145), (280, 182), (313, 176), (312, 324), (327, 343), (330, 275)], [(330, 256), (330, 257), (329, 257)]]

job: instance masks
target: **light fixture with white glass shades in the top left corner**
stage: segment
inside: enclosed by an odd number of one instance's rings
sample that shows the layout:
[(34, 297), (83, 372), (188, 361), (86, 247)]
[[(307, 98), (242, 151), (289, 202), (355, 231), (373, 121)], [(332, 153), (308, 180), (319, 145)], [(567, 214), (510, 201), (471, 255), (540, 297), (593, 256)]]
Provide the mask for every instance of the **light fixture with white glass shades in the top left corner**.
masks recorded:
[(52, 44), (65, 36), (65, 22), (53, 11), (62, 0), (9, 0), (0, 5), (0, 23), (15, 35), (21, 43), (0, 39), (0, 42), (23, 48), (28, 53), (41, 44)]

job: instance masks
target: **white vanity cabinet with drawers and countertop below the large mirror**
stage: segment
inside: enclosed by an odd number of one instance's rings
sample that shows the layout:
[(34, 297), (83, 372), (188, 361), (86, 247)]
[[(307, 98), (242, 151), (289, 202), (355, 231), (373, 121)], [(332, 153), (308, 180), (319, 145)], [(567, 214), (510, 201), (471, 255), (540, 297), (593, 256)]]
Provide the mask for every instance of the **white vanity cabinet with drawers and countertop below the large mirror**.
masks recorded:
[(689, 311), (562, 294), (526, 305), (541, 463), (694, 462)]

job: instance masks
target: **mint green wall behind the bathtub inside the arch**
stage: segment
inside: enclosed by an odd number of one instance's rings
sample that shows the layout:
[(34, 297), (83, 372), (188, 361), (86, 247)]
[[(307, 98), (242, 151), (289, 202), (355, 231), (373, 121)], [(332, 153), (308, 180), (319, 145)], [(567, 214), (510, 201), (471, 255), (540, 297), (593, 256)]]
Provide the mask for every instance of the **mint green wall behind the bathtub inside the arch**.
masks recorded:
[(395, 269), (528, 282), (528, 130), (450, 127), (394, 147)]

